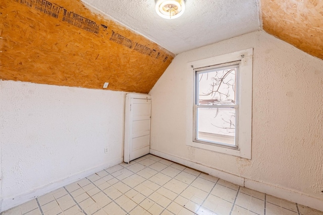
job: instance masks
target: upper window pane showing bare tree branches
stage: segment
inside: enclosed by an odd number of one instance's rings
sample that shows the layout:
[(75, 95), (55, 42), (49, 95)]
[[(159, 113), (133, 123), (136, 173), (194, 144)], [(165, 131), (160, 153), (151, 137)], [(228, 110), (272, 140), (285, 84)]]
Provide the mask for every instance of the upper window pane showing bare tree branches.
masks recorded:
[(196, 73), (198, 105), (236, 104), (236, 80), (239, 65)]

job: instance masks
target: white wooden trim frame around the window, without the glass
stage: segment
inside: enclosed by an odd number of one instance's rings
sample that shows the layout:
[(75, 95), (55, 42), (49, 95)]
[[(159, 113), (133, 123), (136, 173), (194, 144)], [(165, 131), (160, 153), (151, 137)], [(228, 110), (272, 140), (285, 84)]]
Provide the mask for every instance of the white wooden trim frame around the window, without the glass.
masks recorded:
[[(237, 76), (237, 100), (239, 100), (238, 112), (238, 126), (236, 127), (236, 138), (238, 139), (237, 146), (226, 146), (220, 144), (210, 144), (208, 142), (196, 141), (196, 121), (195, 121), (195, 69), (207, 66), (214, 66), (234, 61), (240, 62), (239, 76)], [(206, 59), (196, 60), (188, 63), (191, 68), (190, 71), (193, 75), (193, 112), (191, 117), (193, 118), (191, 129), (191, 140), (187, 141), (187, 145), (191, 147), (201, 148), (214, 152), (220, 152), (241, 158), (251, 159), (251, 123), (252, 123), (252, 60), (253, 49), (246, 49), (236, 51), (229, 54), (210, 57)], [(192, 89), (192, 88), (191, 88)], [(191, 106), (192, 107), (192, 106)]]

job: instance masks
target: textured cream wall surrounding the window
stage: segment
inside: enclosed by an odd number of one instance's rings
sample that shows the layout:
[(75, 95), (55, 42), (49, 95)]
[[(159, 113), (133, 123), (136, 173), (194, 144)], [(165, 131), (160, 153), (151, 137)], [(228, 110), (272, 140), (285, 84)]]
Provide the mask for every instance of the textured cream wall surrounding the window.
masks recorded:
[[(254, 48), (252, 160), (186, 146), (193, 75), (187, 62)], [(323, 61), (265, 32), (181, 53), (149, 93), (151, 149), (323, 200)]]

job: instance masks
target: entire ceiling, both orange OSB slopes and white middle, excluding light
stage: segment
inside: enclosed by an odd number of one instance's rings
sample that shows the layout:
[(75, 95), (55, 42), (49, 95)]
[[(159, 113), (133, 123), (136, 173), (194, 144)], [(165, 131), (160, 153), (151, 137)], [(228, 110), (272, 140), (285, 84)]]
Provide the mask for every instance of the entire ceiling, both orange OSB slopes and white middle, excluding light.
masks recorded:
[(264, 30), (323, 59), (323, 1), (2, 0), (0, 79), (148, 93), (176, 54)]

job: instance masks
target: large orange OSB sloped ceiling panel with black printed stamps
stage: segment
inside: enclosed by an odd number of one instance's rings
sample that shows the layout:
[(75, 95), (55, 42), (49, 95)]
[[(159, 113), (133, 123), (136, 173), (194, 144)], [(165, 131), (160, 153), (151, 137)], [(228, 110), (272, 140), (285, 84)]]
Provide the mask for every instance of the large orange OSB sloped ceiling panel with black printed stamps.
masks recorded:
[(2, 0), (0, 79), (148, 93), (174, 54), (77, 0)]

